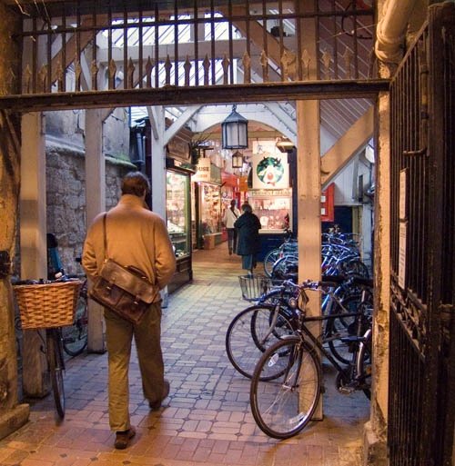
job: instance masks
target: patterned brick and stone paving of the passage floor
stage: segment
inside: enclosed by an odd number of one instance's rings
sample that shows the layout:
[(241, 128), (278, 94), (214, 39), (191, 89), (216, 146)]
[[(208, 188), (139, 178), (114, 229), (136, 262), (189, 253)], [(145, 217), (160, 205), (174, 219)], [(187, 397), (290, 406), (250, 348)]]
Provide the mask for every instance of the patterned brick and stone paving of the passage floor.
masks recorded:
[(227, 325), (248, 305), (238, 285), (240, 259), (221, 244), (194, 253), (194, 270), (194, 282), (174, 292), (164, 310), (171, 390), (161, 411), (148, 410), (132, 359), (130, 410), (137, 434), (131, 446), (113, 448), (106, 354), (85, 354), (67, 362), (65, 421), (56, 421), (52, 395), (28, 401), (29, 422), (0, 441), (0, 465), (359, 466), (369, 402), (361, 392), (336, 392), (327, 367), (323, 421), (287, 441), (258, 429), (249, 410), (249, 382), (225, 351)]

